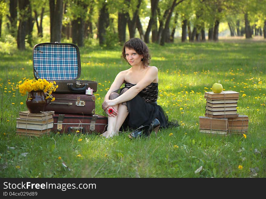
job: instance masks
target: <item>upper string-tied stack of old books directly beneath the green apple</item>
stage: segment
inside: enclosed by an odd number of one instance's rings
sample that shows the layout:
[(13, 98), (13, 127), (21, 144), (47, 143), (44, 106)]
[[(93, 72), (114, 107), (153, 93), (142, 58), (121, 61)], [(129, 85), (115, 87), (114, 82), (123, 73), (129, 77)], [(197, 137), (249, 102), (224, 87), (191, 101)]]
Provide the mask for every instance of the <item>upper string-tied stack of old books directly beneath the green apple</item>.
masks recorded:
[(239, 93), (236, 91), (222, 91), (221, 93), (205, 92), (205, 116), (210, 118), (235, 118)]

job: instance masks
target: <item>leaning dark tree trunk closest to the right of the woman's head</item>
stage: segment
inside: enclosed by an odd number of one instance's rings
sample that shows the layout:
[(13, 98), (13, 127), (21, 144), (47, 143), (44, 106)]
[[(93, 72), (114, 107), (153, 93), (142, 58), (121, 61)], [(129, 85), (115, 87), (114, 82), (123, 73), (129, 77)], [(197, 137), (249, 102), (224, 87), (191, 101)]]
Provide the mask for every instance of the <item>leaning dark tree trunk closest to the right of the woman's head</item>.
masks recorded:
[[(148, 27), (147, 27), (147, 30), (145, 32), (145, 35), (144, 35), (144, 41), (145, 43), (149, 43), (149, 38), (150, 38), (150, 32), (151, 30), (154, 30), (153, 26), (155, 24), (157, 24), (157, 15), (156, 15), (156, 11), (157, 11), (157, 8), (158, 8), (158, 2), (159, 0), (151, 0), (151, 18), (150, 18), (150, 21), (149, 21), (149, 24), (148, 24)], [(157, 32), (157, 25), (156, 25), (156, 32)], [(153, 35), (153, 34), (152, 34)]]

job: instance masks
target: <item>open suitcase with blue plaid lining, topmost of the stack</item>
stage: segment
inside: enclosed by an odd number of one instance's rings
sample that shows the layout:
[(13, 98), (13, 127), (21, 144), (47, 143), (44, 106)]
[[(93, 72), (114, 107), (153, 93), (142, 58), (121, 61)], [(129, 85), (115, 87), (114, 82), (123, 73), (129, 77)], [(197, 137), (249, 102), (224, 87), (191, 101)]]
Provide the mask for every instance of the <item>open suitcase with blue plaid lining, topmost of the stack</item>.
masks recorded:
[(81, 74), (78, 46), (70, 43), (40, 43), (33, 48), (35, 79), (55, 81), (58, 93), (85, 94), (88, 88), (97, 91), (97, 81), (78, 80)]

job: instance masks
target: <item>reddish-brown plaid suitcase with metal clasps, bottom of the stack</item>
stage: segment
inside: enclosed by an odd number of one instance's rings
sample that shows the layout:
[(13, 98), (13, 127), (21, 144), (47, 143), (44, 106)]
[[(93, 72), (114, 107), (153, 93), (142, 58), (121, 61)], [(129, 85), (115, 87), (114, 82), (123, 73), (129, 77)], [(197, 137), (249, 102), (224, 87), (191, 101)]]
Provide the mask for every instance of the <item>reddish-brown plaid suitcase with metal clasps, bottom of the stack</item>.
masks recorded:
[(107, 129), (108, 118), (95, 115), (54, 114), (54, 127), (51, 131), (57, 133), (102, 134)]

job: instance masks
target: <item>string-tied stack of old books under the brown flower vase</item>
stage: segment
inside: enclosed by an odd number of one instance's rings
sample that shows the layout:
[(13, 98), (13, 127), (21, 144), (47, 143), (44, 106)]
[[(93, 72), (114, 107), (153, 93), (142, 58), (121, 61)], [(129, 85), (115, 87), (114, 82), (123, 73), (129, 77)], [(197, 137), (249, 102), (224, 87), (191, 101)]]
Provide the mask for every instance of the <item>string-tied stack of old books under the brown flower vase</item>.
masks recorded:
[(27, 135), (41, 137), (49, 134), (54, 126), (54, 111), (43, 113), (30, 113), (29, 111), (20, 111), (19, 118), (16, 118), (17, 135)]

